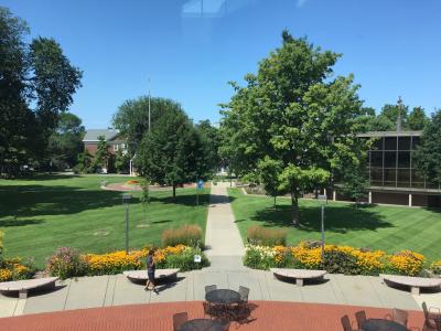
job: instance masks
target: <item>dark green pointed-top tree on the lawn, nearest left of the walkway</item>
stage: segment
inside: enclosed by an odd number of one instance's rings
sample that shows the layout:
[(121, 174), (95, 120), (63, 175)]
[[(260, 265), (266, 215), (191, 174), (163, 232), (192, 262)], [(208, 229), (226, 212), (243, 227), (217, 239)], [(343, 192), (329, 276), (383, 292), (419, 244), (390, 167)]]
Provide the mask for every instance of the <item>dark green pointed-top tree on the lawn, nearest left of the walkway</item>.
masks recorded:
[(170, 103), (143, 136), (138, 148), (136, 167), (142, 175), (154, 183), (176, 186), (205, 179), (209, 173), (209, 163), (205, 154), (205, 146), (181, 106)]

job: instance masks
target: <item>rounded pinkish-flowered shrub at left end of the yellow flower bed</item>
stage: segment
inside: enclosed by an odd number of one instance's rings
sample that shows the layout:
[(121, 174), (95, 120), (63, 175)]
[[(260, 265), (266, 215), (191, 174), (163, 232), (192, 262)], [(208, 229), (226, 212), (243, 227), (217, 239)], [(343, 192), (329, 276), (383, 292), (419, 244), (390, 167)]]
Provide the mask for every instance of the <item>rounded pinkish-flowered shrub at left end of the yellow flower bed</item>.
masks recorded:
[(46, 270), (51, 276), (60, 279), (84, 276), (87, 271), (87, 263), (78, 250), (60, 247), (54, 255), (47, 258)]

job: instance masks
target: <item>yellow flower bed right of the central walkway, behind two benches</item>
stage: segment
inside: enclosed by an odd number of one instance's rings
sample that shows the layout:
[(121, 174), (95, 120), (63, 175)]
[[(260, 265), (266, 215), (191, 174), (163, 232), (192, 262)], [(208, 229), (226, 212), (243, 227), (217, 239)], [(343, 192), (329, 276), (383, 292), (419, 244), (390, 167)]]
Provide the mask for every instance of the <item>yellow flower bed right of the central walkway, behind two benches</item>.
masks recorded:
[[(325, 245), (324, 260), (322, 248), (301, 242), (298, 246), (247, 245), (244, 264), (255, 269), (288, 267), (299, 269), (325, 269), (329, 273), (345, 275), (421, 275), (424, 257), (421, 254), (401, 250), (387, 255), (383, 250), (367, 250), (349, 246)], [(432, 265), (432, 270), (441, 270), (441, 261)]]

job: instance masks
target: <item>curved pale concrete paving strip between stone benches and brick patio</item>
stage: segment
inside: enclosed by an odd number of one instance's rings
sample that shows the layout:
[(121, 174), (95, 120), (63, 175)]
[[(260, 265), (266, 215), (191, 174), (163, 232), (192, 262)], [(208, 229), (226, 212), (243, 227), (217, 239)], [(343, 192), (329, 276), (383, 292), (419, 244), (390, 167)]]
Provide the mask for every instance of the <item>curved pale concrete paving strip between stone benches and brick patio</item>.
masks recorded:
[(412, 296), (407, 289), (383, 285), (378, 277), (327, 275), (325, 281), (298, 287), (275, 279), (269, 271), (243, 268), (213, 270), (205, 268), (180, 273), (175, 281), (159, 286), (159, 295), (143, 290), (123, 275), (80, 277), (57, 282), (55, 290), (32, 292), (28, 299), (0, 295), (0, 317), (79, 308), (110, 307), (131, 303), (194, 301), (205, 299), (205, 286), (237, 289), (250, 288), (250, 300), (291, 301), (366, 306), (378, 308), (421, 309), (422, 301), (441, 307), (441, 293)]

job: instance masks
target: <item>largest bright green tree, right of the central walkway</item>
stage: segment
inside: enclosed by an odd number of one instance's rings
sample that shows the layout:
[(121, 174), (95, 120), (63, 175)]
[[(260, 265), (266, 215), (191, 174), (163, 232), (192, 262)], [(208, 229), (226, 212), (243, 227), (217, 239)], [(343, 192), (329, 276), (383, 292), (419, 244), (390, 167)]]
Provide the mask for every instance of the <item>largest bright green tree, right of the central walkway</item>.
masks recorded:
[(288, 31), (282, 40), (259, 63), (257, 75), (245, 76), (246, 87), (232, 84), (235, 95), (222, 111), (223, 153), (239, 175), (258, 172), (265, 160), (277, 161), (279, 188), (290, 193), (292, 220), (300, 225), (301, 194), (359, 163), (363, 110), (352, 75), (332, 75), (340, 54)]

